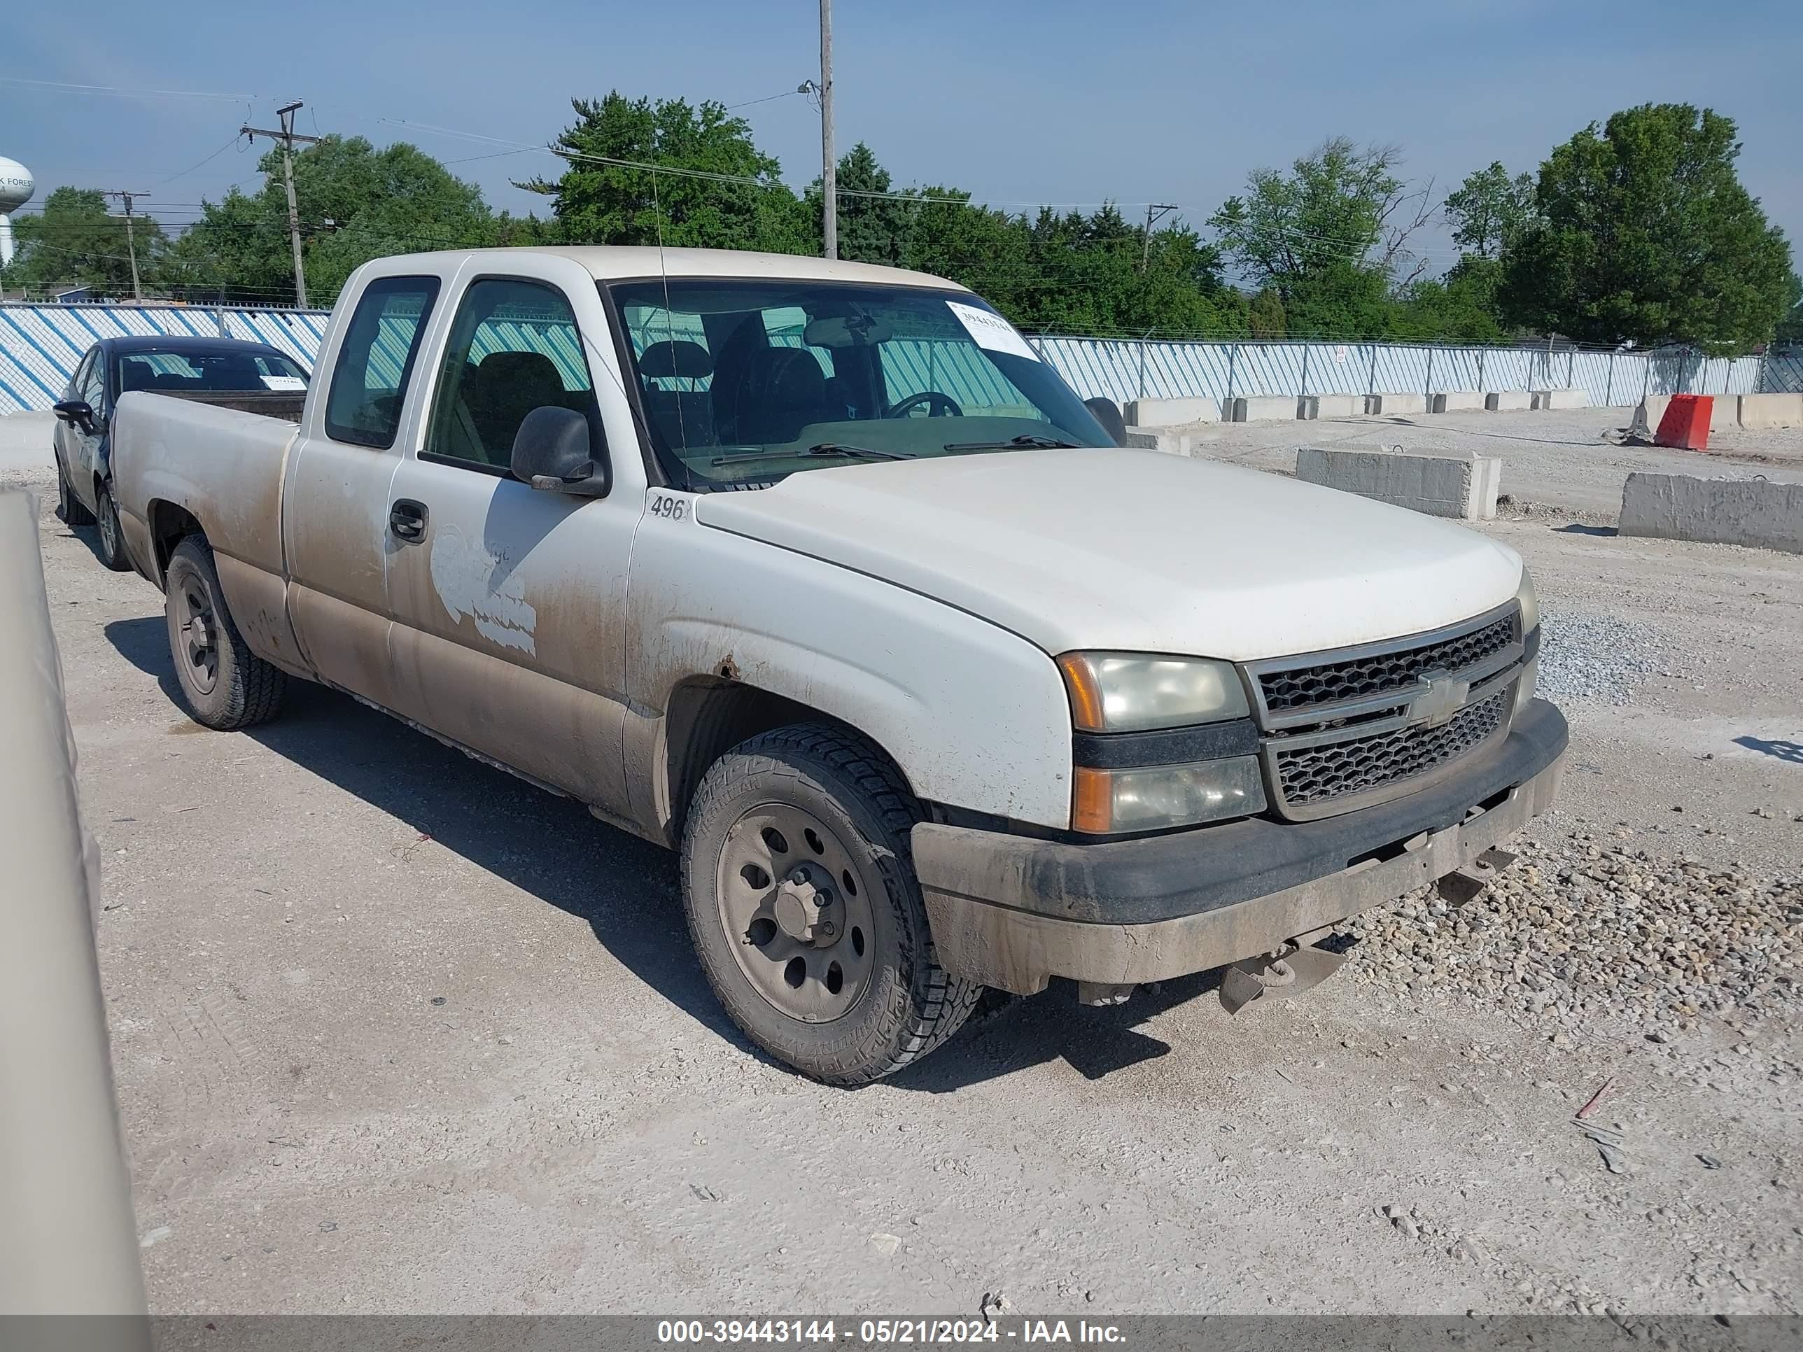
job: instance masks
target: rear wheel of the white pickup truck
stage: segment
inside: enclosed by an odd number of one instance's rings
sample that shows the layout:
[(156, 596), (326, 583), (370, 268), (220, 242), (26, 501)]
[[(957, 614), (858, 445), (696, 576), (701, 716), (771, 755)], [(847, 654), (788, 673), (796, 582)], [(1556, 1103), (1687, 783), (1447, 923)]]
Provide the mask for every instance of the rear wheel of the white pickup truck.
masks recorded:
[(288, 678), (243, 642), (202, 535), (188, 535), (169, 555), (162, 613), (175, 678), (195, 723), (233, 732), (276, 716)]

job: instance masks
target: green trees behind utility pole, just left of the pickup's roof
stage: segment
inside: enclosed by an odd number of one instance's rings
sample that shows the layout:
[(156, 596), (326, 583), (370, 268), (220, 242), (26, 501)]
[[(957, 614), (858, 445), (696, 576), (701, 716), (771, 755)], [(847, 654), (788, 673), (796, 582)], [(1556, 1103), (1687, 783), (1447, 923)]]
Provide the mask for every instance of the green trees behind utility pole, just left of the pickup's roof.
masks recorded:
[[(191, 296), (283, 301), (294, 296), (288, 198), (281, 151), (258, 162), (263, 187), (207, 202), (177, 243), (169, 279)], [(362, 137), (326, 137), (294, 157), (307, 299), (330, 305), (371, 258), (499, 242), (501, 222), (481, 189), (406, 142), (375, 150)]]

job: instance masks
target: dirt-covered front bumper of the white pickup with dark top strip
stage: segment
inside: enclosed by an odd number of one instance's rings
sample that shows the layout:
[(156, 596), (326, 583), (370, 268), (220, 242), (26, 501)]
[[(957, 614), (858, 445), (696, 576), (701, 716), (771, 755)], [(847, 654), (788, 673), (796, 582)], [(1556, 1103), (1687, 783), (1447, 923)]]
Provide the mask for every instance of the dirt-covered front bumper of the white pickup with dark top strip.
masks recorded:
[(914, 869), (939, 963), (1030, 995), (1049, 977), (1165, 981), (1269, 952), (1462, 869), (1552, 806), (1565, 717), (1403, 799), (1314, 822), (1248, 818), (1094, 845), (923, 822)]

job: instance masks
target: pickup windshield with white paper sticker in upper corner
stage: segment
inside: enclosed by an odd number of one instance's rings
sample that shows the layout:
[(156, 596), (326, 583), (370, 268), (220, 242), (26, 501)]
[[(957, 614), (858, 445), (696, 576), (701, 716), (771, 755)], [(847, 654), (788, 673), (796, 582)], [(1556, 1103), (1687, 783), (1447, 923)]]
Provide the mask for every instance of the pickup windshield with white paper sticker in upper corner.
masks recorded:
[(689, 489), (880, 460), (1112, 445), (966, 292), (671, 278), (609, 288), (651, 443)]

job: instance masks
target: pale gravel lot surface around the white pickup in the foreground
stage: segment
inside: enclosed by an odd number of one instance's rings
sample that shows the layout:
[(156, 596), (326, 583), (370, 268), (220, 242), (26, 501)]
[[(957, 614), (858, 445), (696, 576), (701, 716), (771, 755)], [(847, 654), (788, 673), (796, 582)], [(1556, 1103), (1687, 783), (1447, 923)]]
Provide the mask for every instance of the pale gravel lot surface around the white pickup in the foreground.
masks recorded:
[(1803, 559), (1484, 530), (1572, 721), (1489, 894), (844, 1092), (736, 1037), (667, 854), (316, 687), (202, 734), (45, 505), (153, 1307), (1796, 1312)]

